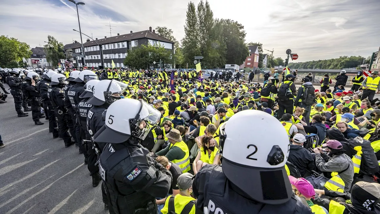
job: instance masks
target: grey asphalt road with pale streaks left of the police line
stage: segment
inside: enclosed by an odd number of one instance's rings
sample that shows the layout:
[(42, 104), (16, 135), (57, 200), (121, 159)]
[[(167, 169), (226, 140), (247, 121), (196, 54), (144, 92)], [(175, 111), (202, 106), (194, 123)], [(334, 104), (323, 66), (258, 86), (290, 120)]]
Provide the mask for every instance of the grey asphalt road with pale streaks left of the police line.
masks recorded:
[[(9, 87), (5, 84), (5, 88)], [(9, 90), (8, 90), (9, 91)], [(103, 214), (101, 185), (92, 187), (84, 156), (53, 139), (48, 122), (17, 117), (12, 95), (0, 104), (1, 214)]]

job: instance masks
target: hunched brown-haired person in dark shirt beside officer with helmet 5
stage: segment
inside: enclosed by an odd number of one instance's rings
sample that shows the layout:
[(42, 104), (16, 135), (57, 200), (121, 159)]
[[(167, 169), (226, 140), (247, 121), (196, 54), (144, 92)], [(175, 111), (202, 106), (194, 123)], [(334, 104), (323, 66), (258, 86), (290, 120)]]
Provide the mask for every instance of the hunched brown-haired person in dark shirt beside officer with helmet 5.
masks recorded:
[[(156, 161), (160, 163), (163, 167), (166, 168), (166, 170), (169, 170), (172, 175), (172, 181), (171, 181), (171, 189), (169, 189), (169, 195), (177, 195), (179, 194), (179, 188), (177, 185), (177, 179), (178, 177), (182, 174), (182, 170), (179, 168), (178, 165), (173, 164), (166, 158), (165, 156), (158, 156), (156, 157)], [(164, 207), (165, 200), (167, 197), (162, 198), (162, 199), (156, 199), (156, 204), (158, 208), (158, 212)]]

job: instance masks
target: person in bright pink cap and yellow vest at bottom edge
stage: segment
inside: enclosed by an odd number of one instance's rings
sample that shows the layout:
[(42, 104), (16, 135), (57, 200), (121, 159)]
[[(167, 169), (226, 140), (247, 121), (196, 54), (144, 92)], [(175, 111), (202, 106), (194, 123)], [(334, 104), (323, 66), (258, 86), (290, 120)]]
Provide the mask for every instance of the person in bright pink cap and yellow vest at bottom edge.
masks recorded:
[(291, 187), (293, 189), (294, 195), (301, 198), (301, 201), (310, 207), (314, 214), (328, 214), (326, 208), (314, 204), (311, 198), (315, 196), (315, 190), (313, 185), (304, 178), (294, 178), (293, 176), (288, 176)]

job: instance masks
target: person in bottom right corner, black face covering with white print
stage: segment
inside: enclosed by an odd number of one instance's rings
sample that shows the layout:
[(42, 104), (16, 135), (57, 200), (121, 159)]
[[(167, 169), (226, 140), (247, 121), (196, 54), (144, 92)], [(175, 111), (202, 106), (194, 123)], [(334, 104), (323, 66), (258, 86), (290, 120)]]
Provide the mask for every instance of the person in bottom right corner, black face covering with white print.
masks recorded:
[[(331, 214), (379, 214), (380, 205), (374, 203), (380, 200), (380, 184), (365, 181), (356, 182), (351, 189), (351, 194), (340, 193), (330, 190), (315, 189), (319, 196), (325, 195), (329, 198), (342, 197), (349, 202), (337, 202), (322, 197), (312, 199), (313, 203), (329, 209)], [(374, 201), (374, 202), (372, 202)]]

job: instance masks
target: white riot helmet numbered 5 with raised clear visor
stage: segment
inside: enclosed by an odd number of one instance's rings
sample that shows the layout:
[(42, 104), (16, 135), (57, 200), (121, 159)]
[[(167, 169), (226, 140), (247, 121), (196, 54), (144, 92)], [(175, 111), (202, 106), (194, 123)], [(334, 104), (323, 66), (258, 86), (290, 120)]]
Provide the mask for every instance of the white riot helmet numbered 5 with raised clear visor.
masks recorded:
[(143, 140), (149, 134), (150, 128), (157, 124), (160, 116), (159, 111), (141, 99), (117, 100), (108, 107), (105, 125), (94, 135), (93, 141), (123, 143), (131, 136)]

